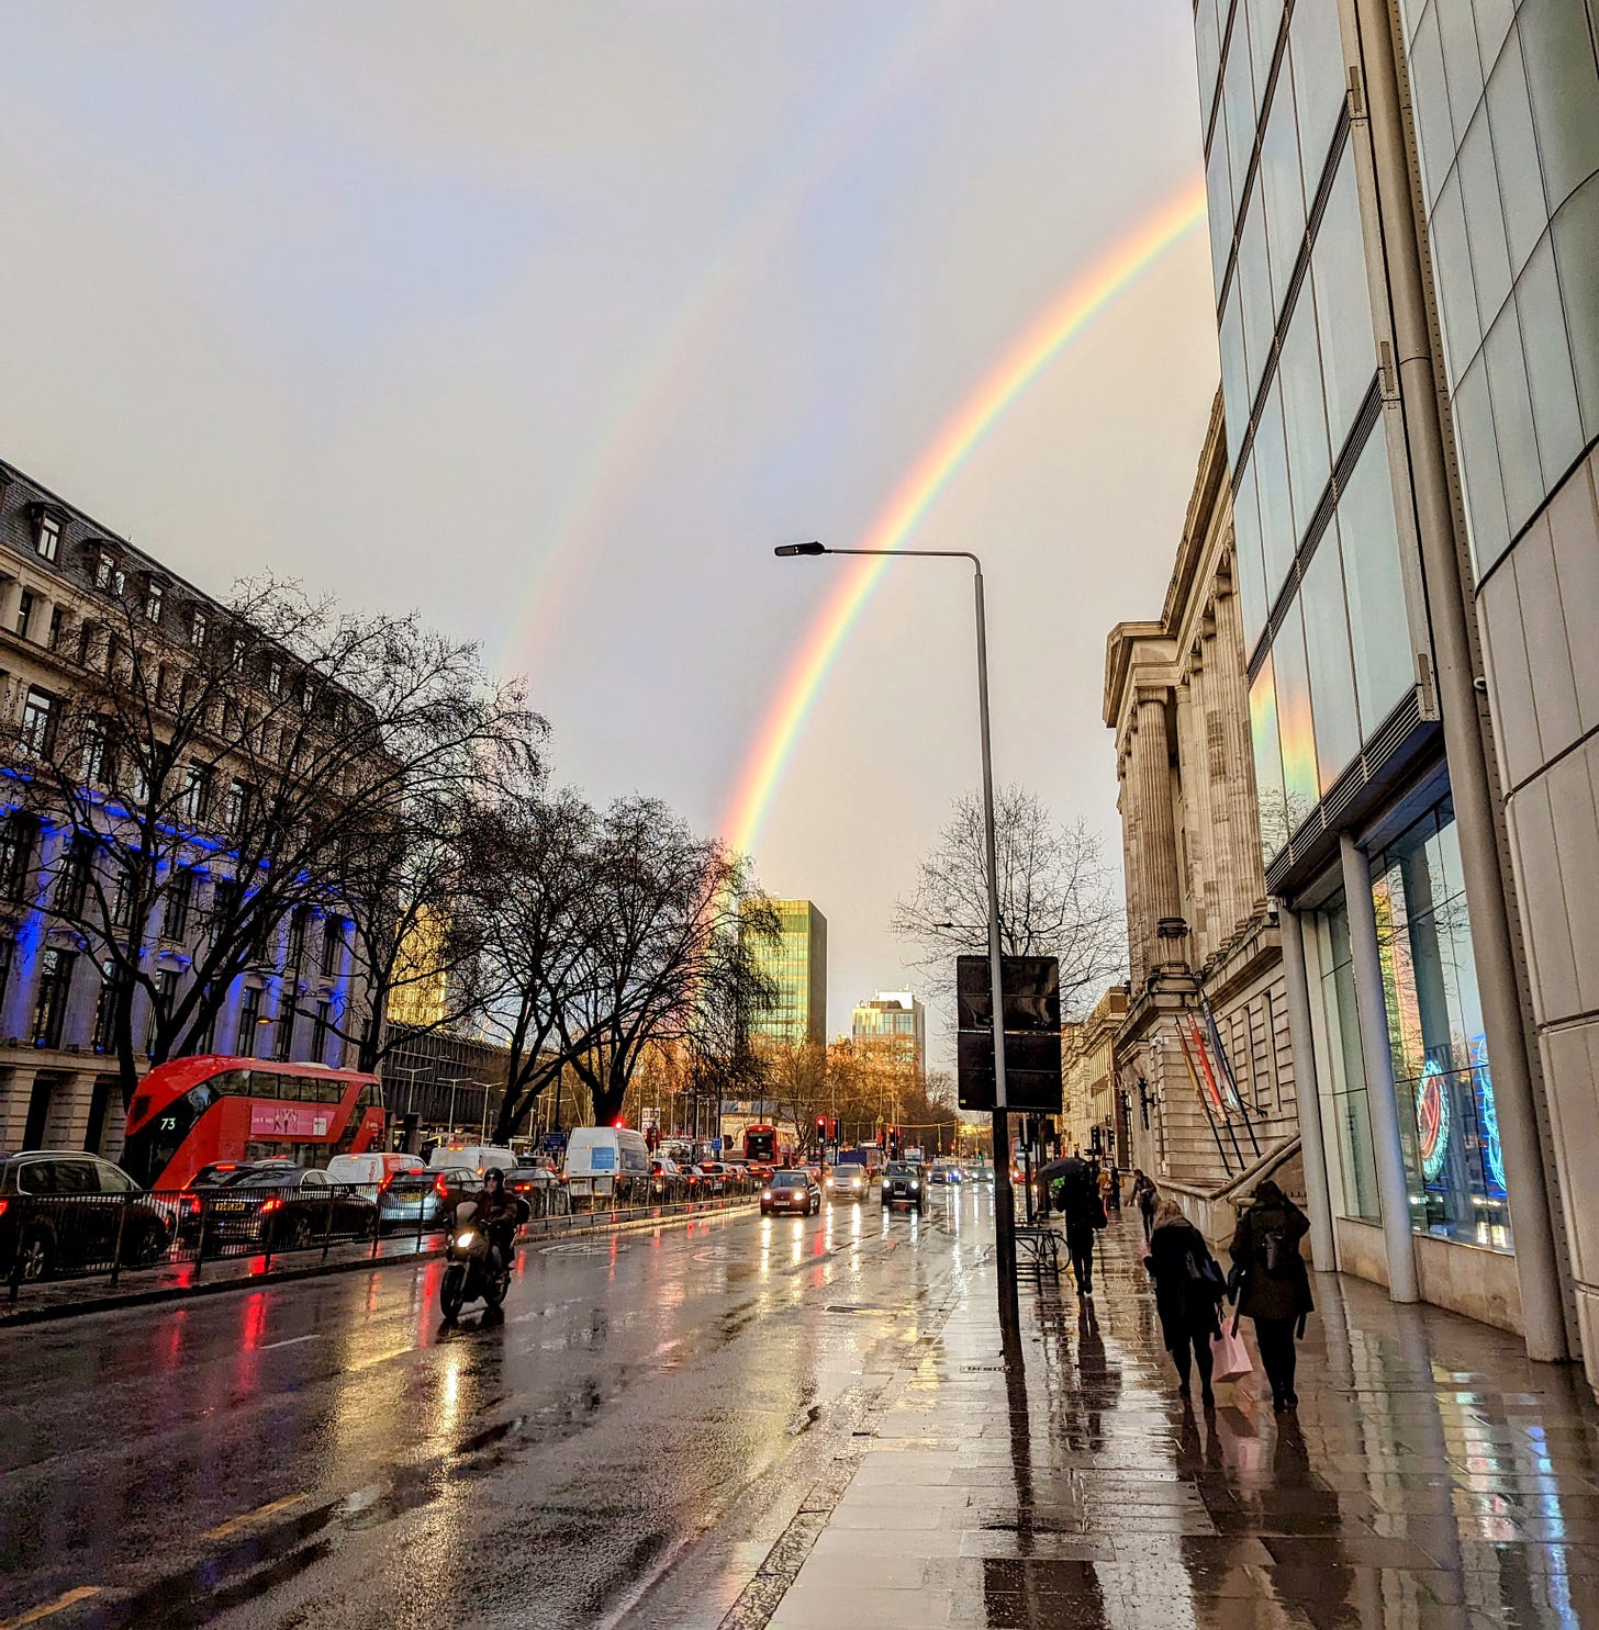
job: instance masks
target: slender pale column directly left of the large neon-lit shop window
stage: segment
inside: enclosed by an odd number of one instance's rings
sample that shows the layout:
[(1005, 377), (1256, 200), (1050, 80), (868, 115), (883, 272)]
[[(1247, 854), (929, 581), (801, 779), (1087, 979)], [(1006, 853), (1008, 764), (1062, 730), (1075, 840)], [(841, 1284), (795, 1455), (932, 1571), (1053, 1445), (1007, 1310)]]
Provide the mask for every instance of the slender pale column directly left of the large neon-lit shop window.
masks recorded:
[(1393, 1055), (1389, 1050), (1389, 1004), (1377, 954), (1377, 908), (1371, 896), (1371, 864), (1348, 833), (1338, 836), (1343, 893), (1349, 911), (1349, 950), (1354, 958), (1354, 1004), (1361, 1014), (1361, 1063), (1366, 1066), (1366, 1107), (1377, 1161), (1377, 1198), (1389, 1250), (1389, 1296), (1415, 1302), (1416, 1244), (1410, 1231), (1410, 1182), (1400, 1144), (1398, 1100), (1393, 1095)]

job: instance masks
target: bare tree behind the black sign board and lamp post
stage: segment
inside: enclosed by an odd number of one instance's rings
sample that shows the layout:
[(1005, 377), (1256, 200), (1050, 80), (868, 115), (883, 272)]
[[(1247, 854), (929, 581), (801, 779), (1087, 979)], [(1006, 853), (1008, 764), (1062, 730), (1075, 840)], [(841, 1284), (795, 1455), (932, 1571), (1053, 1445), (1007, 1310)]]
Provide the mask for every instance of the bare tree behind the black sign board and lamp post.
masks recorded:
[[(1002, 787), (994, 800), (1000, 945), (1008, 957), (1059, 957), (1061, 1006), (1077, 1014), (1126, 968), (1127, 942), (1114, 872), (1083, 822), (1056, 825), (1036, 794)], [(894, 903), (894, 932), (920, 947), (915, 967), (945, 1006), (955, 957), (989, 949), (982, 799), (966, 794), (909, 898)]]

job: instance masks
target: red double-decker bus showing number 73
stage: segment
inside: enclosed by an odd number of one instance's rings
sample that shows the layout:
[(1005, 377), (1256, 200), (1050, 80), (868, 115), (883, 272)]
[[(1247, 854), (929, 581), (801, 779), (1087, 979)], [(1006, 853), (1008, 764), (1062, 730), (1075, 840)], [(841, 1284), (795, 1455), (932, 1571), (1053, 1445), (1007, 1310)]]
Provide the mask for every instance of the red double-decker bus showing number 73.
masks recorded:
[(183, 1188), (212, 1161), (326, 1165), (382, 1146), (377, 1076), (206, 1053), (158, 1064), (139, 1084), (122, 1167), (147, 1188)]

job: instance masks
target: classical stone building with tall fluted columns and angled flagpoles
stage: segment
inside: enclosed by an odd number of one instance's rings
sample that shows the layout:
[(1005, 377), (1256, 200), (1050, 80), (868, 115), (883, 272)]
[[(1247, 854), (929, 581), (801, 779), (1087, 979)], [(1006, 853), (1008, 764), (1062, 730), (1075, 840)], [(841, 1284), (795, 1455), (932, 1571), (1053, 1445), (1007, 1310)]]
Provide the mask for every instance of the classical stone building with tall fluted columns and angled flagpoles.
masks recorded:
[[(1217, 394), (1160, 618), (1105, 659), (1127, 892), (1119, 1152), (1212, 1236), (1271, 1170), (1302, 1185), (1282, 952), (1261, 870)], [(1121, 1128), (1118, 1128), (1121, 1130)]]

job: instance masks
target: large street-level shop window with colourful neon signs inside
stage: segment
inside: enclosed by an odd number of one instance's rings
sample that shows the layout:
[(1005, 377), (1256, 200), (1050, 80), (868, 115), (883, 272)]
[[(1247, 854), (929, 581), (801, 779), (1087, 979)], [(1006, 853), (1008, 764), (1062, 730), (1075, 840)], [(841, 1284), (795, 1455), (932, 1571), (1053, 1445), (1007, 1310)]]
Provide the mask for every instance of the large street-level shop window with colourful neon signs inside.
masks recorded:
[(1447, 799), (1372, 861), (1411, 1226), (1511, 1250), (1493, 1073), (1459, 879)]

